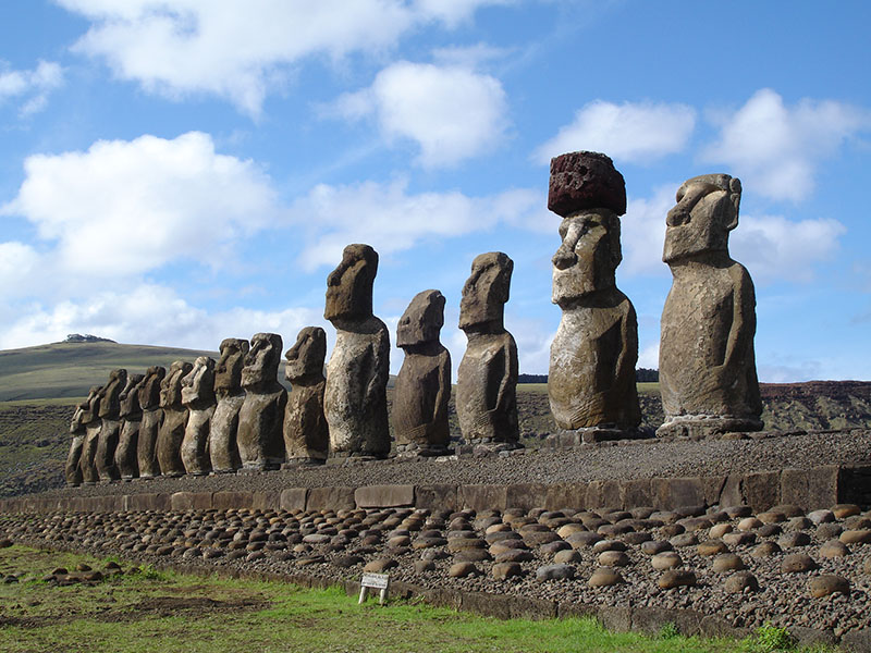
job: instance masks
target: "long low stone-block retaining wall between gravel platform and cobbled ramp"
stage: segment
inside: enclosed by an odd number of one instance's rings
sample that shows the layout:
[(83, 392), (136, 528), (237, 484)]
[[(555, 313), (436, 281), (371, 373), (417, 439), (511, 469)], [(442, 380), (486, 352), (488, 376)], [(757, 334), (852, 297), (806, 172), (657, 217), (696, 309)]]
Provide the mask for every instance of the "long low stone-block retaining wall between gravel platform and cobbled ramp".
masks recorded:
[[(589, 483), (520, 483), (510, 485), (366, 485), (289, 488), (281, 492), (176, 492), (174, 494), (119, 493), (105, 496), (0, 500), (3, 513), (126, 512), (259, 508), (316, 510), (342, 508), (418, 507), (473, 508), (601, 508), (631, 509), (653, 506), (722, 507), (748, 505), (764, 510), (793, 504), (806, 510), (837, 503), (871, 504), (871, 465), (829, 465), (811, 469), (783, 469), (747, 475), (598, 480)], [(144, 490), (146, 488), (143, 488)]]

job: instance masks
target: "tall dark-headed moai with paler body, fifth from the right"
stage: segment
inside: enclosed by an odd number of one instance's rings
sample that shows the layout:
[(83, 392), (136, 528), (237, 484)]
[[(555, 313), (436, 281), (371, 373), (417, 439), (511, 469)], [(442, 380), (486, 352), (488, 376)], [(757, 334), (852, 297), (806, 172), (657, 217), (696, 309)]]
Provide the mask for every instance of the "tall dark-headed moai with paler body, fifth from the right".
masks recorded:
[(348, 245), (327, 278), (323, 317), (335, 326), (335, 347), (327, 365), (323, 411), (333, 456), (383, 458), (390, 453), (390, 334), (372, 315), (377, 272), (375, 249)]

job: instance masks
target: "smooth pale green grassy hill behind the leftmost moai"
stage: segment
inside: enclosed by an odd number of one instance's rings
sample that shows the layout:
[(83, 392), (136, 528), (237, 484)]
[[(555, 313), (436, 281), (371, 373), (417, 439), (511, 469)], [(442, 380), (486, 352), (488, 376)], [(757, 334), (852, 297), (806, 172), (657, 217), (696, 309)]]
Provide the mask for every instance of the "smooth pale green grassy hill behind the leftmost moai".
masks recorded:
[(84, 397), (91, 385), (105, 383), (114, 369), (125, 368), (135, 374), (152, 365), (169, 368), (173, 360), (193, 362), (197, 356), (218, 354), (112, 342), (64, 342), (0, 350), (0, 402)]

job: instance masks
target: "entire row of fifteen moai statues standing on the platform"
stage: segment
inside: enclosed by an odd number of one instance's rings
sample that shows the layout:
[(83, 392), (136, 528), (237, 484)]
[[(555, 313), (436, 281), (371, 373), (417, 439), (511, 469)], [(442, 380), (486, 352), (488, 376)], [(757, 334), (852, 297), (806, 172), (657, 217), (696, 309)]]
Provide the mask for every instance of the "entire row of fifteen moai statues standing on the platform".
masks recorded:
[[(728, 256), (741, 186), (725, 174), (692, 177), (668, 211), (663, 260), (674, 282), (662, 316), (659, 435), (704, 436), (762, 428), (747, 270)], [(617, 288), (623, 175), (605, 155), (572, 152), (551, 162), (548, 207), (563, 220), (553, 257), (553, 303), (563, 311), (551, 346), (548, 390), (556, 438), (598, 442), (642, 438), (635, 384), (638, 324)], [(468, 344), (457, 370), (464, 440), (494, 451), (519, 446), (517, 346), (504, 328), (513, 261), (475, 258), (463, 287), (459, 328)], [(391, 449), (387, 385), (390, 336), (372, 312), (378, 254), (348, 245), (327, 280), (324, 318), (336, 331), (323, 374), (326, 333), (299, 332), (285, 355), (289, 393), (278, 382), (281, 336), (221, 343), (221, 358), (112, 372), (76, 410), (71, 484), (155, 476), (275, 469), (328, 456), (383, 458)], [(450, 452), (451, 356), (439, 334), (445, 298), (414, 297), (396, 330), (405, 353), (392, 421), (398, 455)]]

